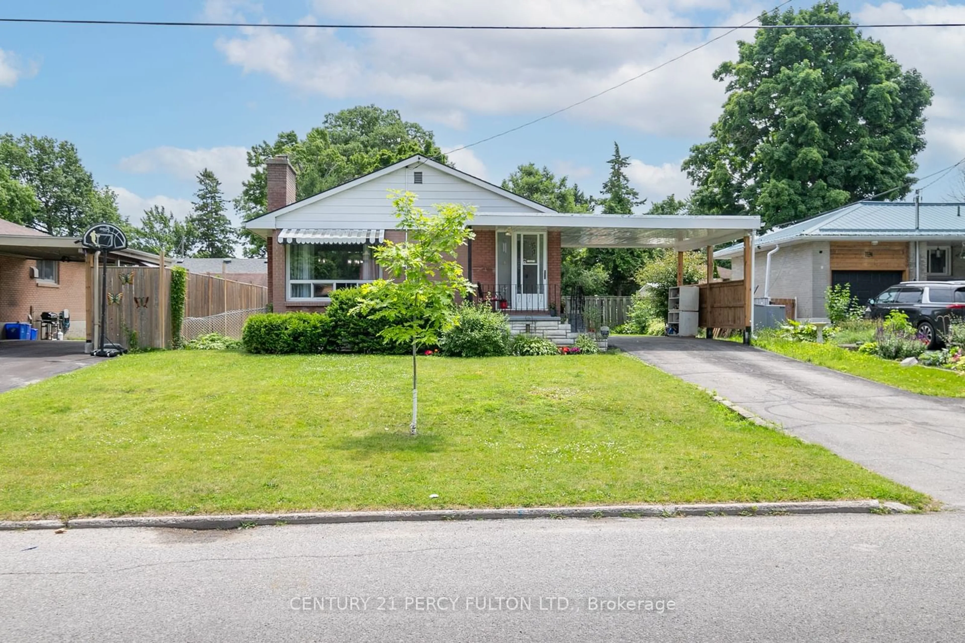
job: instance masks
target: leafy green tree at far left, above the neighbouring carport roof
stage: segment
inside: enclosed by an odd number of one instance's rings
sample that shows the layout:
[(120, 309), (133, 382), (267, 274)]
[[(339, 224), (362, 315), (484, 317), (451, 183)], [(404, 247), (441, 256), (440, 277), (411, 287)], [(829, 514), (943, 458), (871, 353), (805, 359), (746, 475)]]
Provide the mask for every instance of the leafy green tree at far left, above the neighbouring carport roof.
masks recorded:
[(48, 234), (76, 236), (92, 224), (125, 225), (118, 214), (117, 195), (101, 188), (80, 162), (68, 141), (24, 134), (0, 136), (0, 165), (36, 196), (24, 225)]

